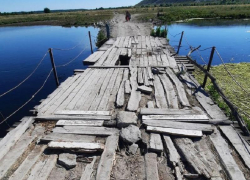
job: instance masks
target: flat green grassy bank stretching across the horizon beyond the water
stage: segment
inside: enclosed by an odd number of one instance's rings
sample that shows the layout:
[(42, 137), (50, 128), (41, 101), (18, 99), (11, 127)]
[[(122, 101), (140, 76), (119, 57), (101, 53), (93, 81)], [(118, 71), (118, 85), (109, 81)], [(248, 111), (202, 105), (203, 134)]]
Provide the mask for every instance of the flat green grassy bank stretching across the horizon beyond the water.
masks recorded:
[[(189, 18), (250, 18), (250, 5), (211, 5), (211, 6), (173, 6), (173, 7), (131, 7), (128, 9), (86, 10), (57, 12), (47, 14), (0, 15), (0, 26), (61, 25), (88, 26), (112, 19), (115, 13), (140, 14), (140, 21), (173, 22)], [(160, 16), (157, 17), (157, 13)]]

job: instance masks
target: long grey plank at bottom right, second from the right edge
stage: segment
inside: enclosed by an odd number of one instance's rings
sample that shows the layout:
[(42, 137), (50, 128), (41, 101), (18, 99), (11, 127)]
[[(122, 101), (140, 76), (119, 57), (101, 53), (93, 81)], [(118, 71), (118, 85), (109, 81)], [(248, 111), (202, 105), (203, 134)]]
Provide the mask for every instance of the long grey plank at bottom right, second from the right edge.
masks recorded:
[(222, 163), (228, 178), (231, 180), (242, 179), (245, 180), (245, 177), (236, 164), (233, 156), (231, 155), (231, 151), (228, 148), (228, 144), (221, 137), (220, 133), (217, 131), (216, 133), (209, 136), (216, 152), (219, 155), (220, 162)]

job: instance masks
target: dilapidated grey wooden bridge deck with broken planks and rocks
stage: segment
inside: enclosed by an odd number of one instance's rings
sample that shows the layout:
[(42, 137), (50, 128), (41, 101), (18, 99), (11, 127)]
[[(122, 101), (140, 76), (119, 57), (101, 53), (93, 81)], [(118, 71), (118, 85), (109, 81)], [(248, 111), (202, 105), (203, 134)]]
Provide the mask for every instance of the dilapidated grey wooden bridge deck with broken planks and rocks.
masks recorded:
[(0, 141), (0, 179), (250, 179), (248, 142), (172, 54), (108, 40)]

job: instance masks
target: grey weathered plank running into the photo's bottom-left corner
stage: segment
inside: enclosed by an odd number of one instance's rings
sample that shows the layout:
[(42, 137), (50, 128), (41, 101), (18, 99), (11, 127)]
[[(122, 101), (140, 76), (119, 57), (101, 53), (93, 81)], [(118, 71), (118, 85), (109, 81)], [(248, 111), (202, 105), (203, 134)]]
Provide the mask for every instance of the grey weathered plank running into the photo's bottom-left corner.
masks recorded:
[(13, 146), (8, 153), (0, 160), (0, 179), (2, 179), (8, 170), (16, 163), (16, 161), (23, 155), (29, 144), (36, 138), (36, 136), (28, 136), (24, 134), (19, 141)]

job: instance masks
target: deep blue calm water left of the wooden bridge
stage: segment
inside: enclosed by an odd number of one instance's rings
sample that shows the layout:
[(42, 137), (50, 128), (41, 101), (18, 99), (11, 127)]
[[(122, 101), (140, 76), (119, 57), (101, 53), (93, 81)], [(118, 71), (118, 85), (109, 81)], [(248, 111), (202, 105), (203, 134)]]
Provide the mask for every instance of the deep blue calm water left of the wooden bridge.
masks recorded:
[[(97, 36), (98, 29), (93, 27), (29, 26), (0, 28), (0, 94), (25, 79), (37, 66), (48, 48), (71, 48), (82, 42), (71, 51), (53, 51), (55, 64), (61, 65), (76, 57), (85, 46), (87, 47), (86, 51), (71, 64), (57, 68), (60, 82), (73, 75), (74, 69), (86, 68), (83, 66), (82, 60), (90, 55), (88, 31), (91, 31), (93, 36)], [(95, 44), (94, 40), (93, 44)], [(0, 112), (3, 116), (9, 116), (31, 98), (42, 86), (50, 70), (51, 62), (49, 56), (47, 56), (28, 81), (1, 97)], [(29, 104), (10, 118), (7, 123), (0, 125), (0, 136), (5, 134), (9, 125), (11, 126), (23, 116), (31, 115), (29, 110), (38, 105), (39, 100), (46, 98), (55, 88), (56, 84), (52, 73), (45, 87)], [(0, 114), (0, 121), (2, 119)]]

